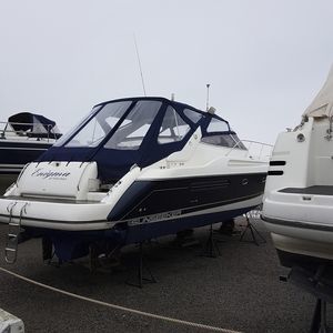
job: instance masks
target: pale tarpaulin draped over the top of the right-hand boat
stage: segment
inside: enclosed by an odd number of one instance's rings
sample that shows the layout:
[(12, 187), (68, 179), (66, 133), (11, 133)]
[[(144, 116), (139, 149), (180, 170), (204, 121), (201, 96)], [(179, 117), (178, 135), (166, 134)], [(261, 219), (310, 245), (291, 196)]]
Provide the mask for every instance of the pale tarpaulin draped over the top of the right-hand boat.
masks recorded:
[(333, 65), (323, 88), (313, 102), (304, 111), (303, 117), (331, 117), (333, 115)]

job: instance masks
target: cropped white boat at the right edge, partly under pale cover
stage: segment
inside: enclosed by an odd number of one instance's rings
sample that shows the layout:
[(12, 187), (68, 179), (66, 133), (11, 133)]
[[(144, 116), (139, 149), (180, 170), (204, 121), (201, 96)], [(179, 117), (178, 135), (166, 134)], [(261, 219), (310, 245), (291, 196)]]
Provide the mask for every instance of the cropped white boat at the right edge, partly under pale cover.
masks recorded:
[(278, 137), (262, 219), (282, 265), (332, 265), (333, 69), (294, 130)]

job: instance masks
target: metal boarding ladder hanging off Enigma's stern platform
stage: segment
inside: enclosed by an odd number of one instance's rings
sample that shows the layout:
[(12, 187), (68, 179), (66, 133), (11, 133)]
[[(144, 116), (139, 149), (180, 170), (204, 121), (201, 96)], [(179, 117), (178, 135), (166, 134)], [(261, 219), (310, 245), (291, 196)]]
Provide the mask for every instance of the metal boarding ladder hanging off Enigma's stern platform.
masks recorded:
[(19, 245), (19, 235), (21, 232), (21, 221), (22, 214), (26, 212), (26, 206), (28, 202), (20, 210), (20, 219), (19, 222), (13, 221), (12, 212), (18, 202), (11, 204), (10, 209), (7, 208), (9, 212), (9, 222), (8, 222), (8, 234), (6, 239), (6, 248), (4, 248), (4, 260), (7, 263), (13, 264), (18, 258), (18, 245)]

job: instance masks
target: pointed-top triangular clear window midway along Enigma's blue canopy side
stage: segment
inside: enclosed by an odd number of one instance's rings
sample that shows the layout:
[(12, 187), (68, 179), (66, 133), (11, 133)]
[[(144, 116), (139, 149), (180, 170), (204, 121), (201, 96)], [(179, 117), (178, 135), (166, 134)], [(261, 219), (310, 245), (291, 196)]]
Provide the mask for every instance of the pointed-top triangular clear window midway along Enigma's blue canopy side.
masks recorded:
[(181, 141), (190, 129), (190, 125), (175, 112), (175, 110), (172, 107), (168, 107), (160, 128), (158, 142), (163, 144)]

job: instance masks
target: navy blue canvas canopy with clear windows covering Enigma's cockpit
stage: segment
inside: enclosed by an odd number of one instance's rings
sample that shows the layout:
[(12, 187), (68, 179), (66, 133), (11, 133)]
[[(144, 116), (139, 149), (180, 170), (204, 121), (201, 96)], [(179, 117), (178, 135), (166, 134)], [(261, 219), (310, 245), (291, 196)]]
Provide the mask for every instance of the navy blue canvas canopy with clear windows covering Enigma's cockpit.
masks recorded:
[(102, 184), (117, 182), (132, 165), (148, 167), (180, 151), (198, 128), (202, 142), (245, 149), (229, 122), (164, 98), (129, 98), (100, 103), (41, 161), (95, 161)]

